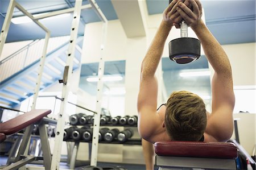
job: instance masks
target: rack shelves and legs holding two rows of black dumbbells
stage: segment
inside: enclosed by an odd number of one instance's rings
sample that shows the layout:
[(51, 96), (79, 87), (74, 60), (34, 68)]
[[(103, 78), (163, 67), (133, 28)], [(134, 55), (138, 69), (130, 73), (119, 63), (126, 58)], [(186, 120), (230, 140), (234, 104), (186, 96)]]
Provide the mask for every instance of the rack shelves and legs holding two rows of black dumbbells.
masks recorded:
[[(71, 125), (71, 126), (88, 126), (88, 125)], [(90, 124), (89, 126), (93, 126)], [(136, 125), (111, 125), (111, 124), (106, 124), (106, 125), (101, 125), (101, 127), (137, 127)], [(64, 140), (65, 142), (74, 142), (74, 146), (71, 148), (71, 146), (68, 146), (68, 163), (70, 169), (75, 169), (75, 163), (76, 163), (76, 157), (77, 157), (77, 152), (79, 148), (80, 142), (84, 143), (89, 143), (89, 158), (92, 152), (92, 141), (90, 142), (85, 142), (84, 140), (72, 140), (72, 139), (67, 139)], [(137, 139), (128, 139), (126, 142), (119, 142), (118, 140), (114, 139), (112, 142), (105, 142), (104, 140), (98, 142), (99, 144), (125, 144), (125, 145), (141, 145), (141, 138)], [(67, 143), (68, 144), (68, 143)], [(70, 150), (70, 151), (69, 151)], [(69, 153), (71, 152), (71, 153)]]

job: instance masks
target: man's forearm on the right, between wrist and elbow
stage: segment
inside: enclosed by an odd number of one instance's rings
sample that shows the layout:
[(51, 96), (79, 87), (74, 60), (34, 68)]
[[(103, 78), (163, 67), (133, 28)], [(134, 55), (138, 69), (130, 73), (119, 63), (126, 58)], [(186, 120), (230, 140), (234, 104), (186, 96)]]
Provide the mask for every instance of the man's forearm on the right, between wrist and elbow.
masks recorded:
[(203, 46), (205, 56), (207, 57), (209, 63), (212, 65), (214, 71), (216, 73), (231, 74), (231, 67), (228, 56), (226, 55), (221, 45), (214, 38), (214, 36), (210, 33), (208, 28), (205, 26), (203, 20), (191, 28), (199, 38)]

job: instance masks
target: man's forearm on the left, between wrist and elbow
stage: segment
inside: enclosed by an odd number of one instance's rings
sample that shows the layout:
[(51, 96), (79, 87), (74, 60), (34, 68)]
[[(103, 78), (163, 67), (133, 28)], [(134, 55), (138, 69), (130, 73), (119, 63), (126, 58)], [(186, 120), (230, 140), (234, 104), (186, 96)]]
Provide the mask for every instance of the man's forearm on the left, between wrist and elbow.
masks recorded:
[(167, 23), (161, 22), (150, 48), (142, 61), (142, 77), (154, 76), (159, 61), (162, 57), (164, 45), (171, 27), (172, 26), (168, 25)]

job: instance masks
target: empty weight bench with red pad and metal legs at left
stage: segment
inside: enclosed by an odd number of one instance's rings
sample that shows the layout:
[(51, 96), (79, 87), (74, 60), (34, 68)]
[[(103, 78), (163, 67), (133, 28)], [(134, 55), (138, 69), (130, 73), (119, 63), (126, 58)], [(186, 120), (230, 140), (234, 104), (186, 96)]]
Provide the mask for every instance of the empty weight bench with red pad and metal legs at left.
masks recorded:
[(19, 148), (18, 155), (13, 159), (13, 157), (10, 157), (10, 155), (15, 154), (10, 154), (6, 164), (7, 166), (3, 169), (18, 169), (19, 167), (22, 167), (23, 165), (30, 163), (33, 160), (36, 160), (35, 156), (23, 156), (27, 147), (27, 143), (30, 143), (32, 125), (34, 125), (35, 123), (38, 123), (39, 125), (39, 134), (42, 141), (42, 151), (44, 155), (44, 167), (50, 168), (49, 166), (51, 165), (51, 152), (49, 150), (48, 135), (45, 126), (46, 123), (44, 121), (44, 119), (48, 119), (44, 117), (46, 117), (49, 113), (51, 113), (51, 110), (48, 109), (34, 109), (22, 115), (18, 115), (17, 117), (10, 119), (9, 121), (0, 123), (0, 143), (5, 141), (8, 136), (13, 135), (20, 130), (23, 130), (23, 128), (26, 128), (22, 137), (21, 144), (20, 142), (15, 142), (16, 146), (13, 147), (10, 151), (14, 153), (15, 150), (18, 150)]

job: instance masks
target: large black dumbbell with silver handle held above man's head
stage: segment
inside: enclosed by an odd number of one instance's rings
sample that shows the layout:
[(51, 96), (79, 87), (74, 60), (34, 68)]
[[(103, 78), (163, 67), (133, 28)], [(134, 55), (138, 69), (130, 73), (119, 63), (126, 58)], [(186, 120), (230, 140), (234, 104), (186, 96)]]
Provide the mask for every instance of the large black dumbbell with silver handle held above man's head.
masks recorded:
[[(172, 0), (169, 0), (169, 4)], [(188, 25), (183, 20), (180, 25), (180, 36), (169, 43), (169, 57), (178, 64), (191, 63), (200, 58), (200, 41), (188, 37)]]

